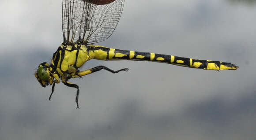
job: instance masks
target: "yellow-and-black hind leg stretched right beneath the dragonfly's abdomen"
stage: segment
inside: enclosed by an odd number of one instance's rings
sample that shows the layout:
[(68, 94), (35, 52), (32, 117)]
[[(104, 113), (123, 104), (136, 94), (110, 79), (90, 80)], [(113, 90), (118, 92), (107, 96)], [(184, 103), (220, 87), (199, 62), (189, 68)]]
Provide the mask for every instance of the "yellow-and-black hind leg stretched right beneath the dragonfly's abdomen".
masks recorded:
[(108, 67), (105, 67), (105, 66), (96, 66), (96, 67), (88, 69), (88, 70), (80, 71), (78, 74), (75, 74), (74, 76), (72, 76), (72, 78), (82, 77), (84, 75), (91, 74), (91, 73), (94, 73), (94, 72), (102, 70), (102, 69), (110, 71), (113, 74), (116, 74), (120, 71), (128, 72), (128, 70), (129, 70), (128, 68), (124, 68), (124, 69), (120, 69), (120, 70), (115, 71), (115, 70), (111, 70), (111, 69), (109, 69)]

